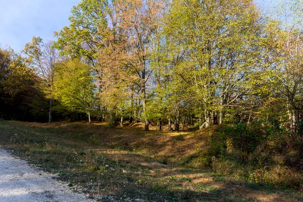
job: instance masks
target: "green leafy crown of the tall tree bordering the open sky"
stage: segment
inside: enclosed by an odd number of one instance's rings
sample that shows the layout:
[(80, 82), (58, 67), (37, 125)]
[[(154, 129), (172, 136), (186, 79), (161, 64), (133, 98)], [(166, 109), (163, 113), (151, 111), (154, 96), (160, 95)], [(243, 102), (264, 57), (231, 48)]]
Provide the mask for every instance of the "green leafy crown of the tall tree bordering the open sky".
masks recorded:
[[(105, 35), (107, 20), (105, 8), (106, 0), (83, 0), (78, 6), (73, 7), (69, 18), (70, 26), (64, 27), (60, 32), (55, 32), (58, 40), (55, 46), (61, 50), (61, 54), (79, 59), (85, 56), (96, 59), (97, 49)], [(88, 48), (83, 43), (89, 44)]]

